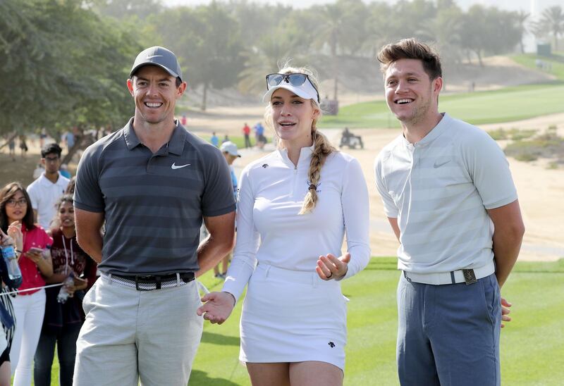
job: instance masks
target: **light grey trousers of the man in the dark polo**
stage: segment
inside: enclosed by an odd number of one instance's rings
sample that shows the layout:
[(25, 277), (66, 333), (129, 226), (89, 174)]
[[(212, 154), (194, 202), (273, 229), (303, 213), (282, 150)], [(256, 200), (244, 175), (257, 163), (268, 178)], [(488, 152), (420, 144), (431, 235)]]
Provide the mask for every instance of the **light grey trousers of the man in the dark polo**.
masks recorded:
[(137, 291), (100, 277), (83, 301), (73, 385), (186, 385), (203, 319), (195, 280)]

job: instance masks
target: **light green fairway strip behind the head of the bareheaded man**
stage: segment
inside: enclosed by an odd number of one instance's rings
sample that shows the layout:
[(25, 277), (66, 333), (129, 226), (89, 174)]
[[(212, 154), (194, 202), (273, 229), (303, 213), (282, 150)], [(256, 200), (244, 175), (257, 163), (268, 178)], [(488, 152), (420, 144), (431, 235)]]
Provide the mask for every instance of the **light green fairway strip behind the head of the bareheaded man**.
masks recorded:
[[(512, 122), (564, 112), (564, 84), (505, 87), (494, 91), (443, 95), (439, 111), (474, 125)], [(400, 127), (388, 111), (386, 101), (344, 106), (338, 116), (324, 116), (319, 127), (343, 128)]]

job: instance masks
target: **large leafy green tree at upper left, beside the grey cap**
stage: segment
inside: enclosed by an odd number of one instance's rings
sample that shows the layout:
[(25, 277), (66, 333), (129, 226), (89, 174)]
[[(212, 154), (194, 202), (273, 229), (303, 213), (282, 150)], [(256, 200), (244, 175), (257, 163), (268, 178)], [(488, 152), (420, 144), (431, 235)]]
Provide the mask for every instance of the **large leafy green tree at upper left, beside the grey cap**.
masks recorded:
[(128, 32), (79, 0), (0, 6), (1, 130), (46, 127), (58, 137), (77, 122), (123, 123), (131, 110), (127, 67), (139, 50)]

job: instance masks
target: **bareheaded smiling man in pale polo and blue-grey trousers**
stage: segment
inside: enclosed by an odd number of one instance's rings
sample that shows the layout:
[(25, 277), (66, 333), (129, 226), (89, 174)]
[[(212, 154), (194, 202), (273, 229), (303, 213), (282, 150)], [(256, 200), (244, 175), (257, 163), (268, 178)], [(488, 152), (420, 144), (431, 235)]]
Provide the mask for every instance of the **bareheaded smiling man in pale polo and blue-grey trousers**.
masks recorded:
[[(500, 385), (500, 288), (525, 232), (508, 161), (479, 128), (439, 113), (439, 56), (415, 39), (378, 54), (402, 135), (376, 157), (400, 241), (402, 385)], [(503, 309), (503, 317), (502, 317)]]

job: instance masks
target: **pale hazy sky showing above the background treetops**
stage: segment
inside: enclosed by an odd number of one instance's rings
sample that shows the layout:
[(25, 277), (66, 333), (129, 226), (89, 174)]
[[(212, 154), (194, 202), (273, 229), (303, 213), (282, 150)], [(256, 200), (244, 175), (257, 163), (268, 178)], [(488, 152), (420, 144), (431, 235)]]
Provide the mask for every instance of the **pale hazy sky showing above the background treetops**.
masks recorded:
[[(161, 0), (167, 6), (196, 6), (200, 4), (209, 4), (211, 0)], [(219, 0), (221, 2), (221, 0)], [(227, 1), (227, 0), (226, 0)], [(398, 0), (380, 0), (386, 3), (394, 4)], [(562, 6), (563, 0), (455, 0), (456, 3), (462, 8), (467, 9), (473, 4), (482, 4), (484, 6), (497, 6), (498, 8), (508, 11), (523, 10), (531, 13), (533, 16), (539, 15), (544, 8), (549, 6)], [(328, 4), (333, 3), (334, 0), (247, 0), (249, 3), (256, 4), (276, 4), (282, 3), (291, 5), (293, 8), (308, 8), (315, 4)], [(364, 2), (370, 2), (364, 0)]]

